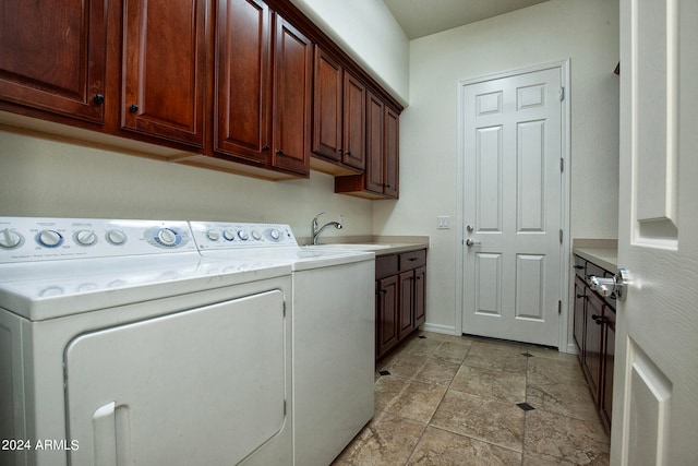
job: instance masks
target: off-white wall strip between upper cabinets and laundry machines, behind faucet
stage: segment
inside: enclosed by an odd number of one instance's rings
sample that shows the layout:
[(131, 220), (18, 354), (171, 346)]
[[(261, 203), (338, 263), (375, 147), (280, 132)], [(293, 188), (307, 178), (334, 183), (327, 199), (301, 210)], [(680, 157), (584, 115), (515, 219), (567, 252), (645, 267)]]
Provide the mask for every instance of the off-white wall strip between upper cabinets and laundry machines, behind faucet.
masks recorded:
[(334, 193), (334, 178), (265, 181), (0, 131), (0, 216), (158, 218), (290, 224), (344, 215), (370, 235), (371, 201)]

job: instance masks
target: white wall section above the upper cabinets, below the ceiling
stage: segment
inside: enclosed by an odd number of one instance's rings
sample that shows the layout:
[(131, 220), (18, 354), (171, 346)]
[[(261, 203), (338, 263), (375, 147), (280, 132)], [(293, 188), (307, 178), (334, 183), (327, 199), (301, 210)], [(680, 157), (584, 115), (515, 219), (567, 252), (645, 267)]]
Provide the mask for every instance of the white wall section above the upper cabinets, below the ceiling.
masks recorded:
[(409, 97), (409, 40), (382, 0), (291, 0), (393, 97)]

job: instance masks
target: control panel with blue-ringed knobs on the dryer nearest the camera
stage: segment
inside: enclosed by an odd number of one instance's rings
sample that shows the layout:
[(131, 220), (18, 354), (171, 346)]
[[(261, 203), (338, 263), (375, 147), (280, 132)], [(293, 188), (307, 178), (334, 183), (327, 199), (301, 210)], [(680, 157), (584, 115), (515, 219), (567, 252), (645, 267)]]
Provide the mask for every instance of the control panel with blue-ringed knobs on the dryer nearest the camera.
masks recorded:
[(0, 217), (0, 263), (196, 251), (186, 222)]

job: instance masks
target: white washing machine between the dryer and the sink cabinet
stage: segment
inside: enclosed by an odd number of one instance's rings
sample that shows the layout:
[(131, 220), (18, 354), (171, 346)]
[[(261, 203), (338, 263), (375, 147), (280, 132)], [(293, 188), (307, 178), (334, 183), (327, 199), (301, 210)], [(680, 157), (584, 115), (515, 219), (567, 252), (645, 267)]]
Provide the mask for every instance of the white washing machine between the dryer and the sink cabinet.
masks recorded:
[(375, 254), (301, 248), (288, 225), (190, 225), (204, 256), (291, 265), (294, 464), (329, 465), (374, 413)]

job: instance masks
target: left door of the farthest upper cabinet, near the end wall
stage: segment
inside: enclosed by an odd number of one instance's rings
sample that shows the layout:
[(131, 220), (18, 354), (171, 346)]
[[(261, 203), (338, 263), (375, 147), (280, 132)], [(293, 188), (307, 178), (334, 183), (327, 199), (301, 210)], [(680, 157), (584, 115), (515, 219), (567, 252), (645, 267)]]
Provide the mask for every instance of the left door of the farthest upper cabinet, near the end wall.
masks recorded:
[(385, 105), (383, 100), (368, 93), (366, 97), (366, 174), (365, 189), (383, 194), (383, 151)]

